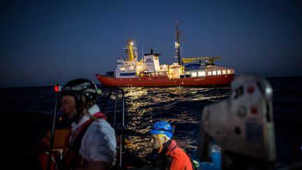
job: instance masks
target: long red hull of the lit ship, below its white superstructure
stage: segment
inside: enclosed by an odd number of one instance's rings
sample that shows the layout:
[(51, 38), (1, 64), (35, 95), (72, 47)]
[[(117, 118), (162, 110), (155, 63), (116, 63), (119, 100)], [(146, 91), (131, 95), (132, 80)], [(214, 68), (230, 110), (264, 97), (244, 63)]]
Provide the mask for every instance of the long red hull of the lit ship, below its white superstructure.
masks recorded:
[(195, 78), (174, 78), (168, 76), (141, 78), (113, 78), (96, 74), (102, 85), (108, 87), (173, 87), (173, 86), (222, 86), (229, 85), (235, 74)]

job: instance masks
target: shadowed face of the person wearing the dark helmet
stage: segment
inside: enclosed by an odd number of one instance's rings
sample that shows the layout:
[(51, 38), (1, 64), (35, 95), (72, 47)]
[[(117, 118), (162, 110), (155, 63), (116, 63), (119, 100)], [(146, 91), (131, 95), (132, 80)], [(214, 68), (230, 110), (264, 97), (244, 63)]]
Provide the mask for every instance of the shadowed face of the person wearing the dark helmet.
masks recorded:
[(67, 115), (67, 118), (76, 118), (75, 99), (72, 96), (65, 95), (62, 97), (61, 111)]

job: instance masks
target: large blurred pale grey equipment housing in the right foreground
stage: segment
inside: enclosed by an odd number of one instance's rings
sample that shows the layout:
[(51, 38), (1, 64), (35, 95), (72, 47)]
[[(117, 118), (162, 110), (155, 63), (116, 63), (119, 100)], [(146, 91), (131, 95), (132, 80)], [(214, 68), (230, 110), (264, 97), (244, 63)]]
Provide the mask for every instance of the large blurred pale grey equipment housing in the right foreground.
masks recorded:
[(221, 148), (222, 169), (271, 169), (276, 160), (273, 90), (267, 80), (243, 74), (229, 99), (203, 108), (196, 157), (210, 161), (210, 136)]

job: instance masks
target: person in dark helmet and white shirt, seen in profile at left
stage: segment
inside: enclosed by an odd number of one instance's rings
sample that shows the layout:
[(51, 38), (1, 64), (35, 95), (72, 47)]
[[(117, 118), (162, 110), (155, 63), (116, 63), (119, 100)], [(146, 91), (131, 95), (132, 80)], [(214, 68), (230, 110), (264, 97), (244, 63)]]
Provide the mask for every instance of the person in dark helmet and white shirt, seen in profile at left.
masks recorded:
[(115, 130), (96, 105), (98, 92), (84, 78), (62, 87), (61, 111), (75, 120), (65, 140), (62, 169), (110, 169), (115, 164)]

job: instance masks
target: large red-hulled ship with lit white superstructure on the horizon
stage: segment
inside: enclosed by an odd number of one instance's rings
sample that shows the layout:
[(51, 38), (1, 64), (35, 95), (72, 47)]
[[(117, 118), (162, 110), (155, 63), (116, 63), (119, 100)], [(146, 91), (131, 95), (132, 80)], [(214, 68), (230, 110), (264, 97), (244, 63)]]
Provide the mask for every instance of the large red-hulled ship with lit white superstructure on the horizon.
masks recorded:
[(138, 59), (134, 41), (127, 39), (125, 52), (127, 57), (117, 59), (115, 71), (106, 75), (95, 76), (106, 87), (173, 87), (201, 86), (215, 87), (230, 85), (235, 70), (214, 64), (215, 59), (222, 57), (180, 57), (180, 32), (178, 22), (175, 24), (175, 57), (173, 64), (159, 64), (160, 53), (147, 53)]

